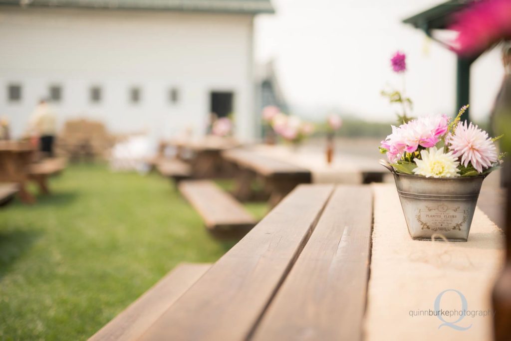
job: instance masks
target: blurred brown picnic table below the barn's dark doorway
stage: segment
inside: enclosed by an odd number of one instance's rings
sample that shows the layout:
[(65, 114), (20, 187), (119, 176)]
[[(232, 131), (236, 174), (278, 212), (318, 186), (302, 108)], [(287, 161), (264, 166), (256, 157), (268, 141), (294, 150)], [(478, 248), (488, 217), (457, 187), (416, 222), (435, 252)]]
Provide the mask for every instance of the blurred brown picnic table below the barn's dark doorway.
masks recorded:
[(178, 157), (191, 152), (190, 162), (195, 178), (207, 179), (226, 175), (225, 163), (221, 157), (223, 151), (235, 148), (239, 142), (233, 138), (208, 135), (199, 139), (191, 137), (173, 138), (164, 145), (172, 145)]

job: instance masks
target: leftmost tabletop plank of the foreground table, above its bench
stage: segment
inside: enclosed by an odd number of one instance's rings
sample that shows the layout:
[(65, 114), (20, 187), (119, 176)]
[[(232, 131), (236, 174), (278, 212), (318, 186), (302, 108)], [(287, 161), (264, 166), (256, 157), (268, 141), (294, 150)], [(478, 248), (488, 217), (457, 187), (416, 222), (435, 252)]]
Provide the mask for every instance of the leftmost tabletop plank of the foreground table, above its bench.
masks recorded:
[(332, 185), (297, 187), (141, 339), (245, 339), (307, 242), (332, 190)]

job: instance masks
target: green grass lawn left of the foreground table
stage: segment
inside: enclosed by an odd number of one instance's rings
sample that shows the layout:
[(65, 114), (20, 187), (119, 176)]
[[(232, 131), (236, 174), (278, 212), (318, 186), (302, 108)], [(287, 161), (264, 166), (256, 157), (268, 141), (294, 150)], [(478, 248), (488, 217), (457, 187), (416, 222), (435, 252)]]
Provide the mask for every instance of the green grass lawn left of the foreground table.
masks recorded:
[(86, 339), (177, 263), (214, 262), (235, 243), (210, 237), (158, 175), (74, 165), (50, 188), (0, 209), (0, 339)]

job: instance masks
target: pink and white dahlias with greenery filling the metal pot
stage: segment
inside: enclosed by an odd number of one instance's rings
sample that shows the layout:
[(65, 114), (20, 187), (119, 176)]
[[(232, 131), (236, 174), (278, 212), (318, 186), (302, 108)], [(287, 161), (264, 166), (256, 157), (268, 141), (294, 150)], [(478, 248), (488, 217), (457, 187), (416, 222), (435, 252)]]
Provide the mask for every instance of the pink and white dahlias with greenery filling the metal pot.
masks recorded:
[(381, 141), (380, 152), (397, 173), (433, 178), (471, 177), (496, 169), (504, 154), (497, 154), (495, 141), (488, 133), (460, 117), (451, 121), (446, 115), (420, 117), (399, 127)]

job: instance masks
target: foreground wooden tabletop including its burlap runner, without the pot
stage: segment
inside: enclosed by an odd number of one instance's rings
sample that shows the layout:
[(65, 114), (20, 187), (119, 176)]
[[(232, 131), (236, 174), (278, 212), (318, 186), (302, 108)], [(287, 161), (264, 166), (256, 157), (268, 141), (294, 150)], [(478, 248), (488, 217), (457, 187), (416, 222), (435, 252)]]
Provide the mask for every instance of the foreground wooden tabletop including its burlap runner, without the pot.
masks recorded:
[[(409, 312), (451, 288), (490, 309), (503, 255), (479, 209), (467, 242), (412, 240), (393, 185), (300, 185), (137, 339), (490, 340), (490, 316), (460, 333)], [(460, 308), (454, 295), (442, 309)]]

